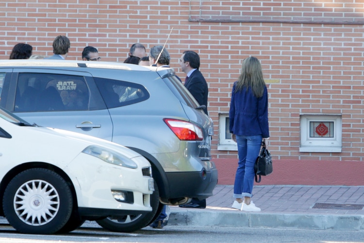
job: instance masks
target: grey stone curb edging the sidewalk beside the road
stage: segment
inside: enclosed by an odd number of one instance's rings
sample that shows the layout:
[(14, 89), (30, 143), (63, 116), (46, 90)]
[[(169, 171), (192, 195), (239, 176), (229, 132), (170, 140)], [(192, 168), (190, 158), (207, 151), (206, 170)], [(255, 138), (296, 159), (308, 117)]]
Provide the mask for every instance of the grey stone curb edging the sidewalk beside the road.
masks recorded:
[(364, 230), (364, 215), (172, 210), (168, 225)]

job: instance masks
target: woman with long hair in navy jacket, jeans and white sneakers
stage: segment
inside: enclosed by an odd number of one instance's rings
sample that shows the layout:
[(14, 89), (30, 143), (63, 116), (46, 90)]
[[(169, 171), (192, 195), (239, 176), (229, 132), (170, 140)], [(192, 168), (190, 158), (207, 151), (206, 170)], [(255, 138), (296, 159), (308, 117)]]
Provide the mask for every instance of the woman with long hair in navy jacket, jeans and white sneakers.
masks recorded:
[(254, 185), (254, 163), (259, 155), (262, 139), (267, 144), (268, 93), (262, 67), (256, 57), (244, 59), (241, 74), (232, 87), (230, 105), (230, 133), (238, 145), (238, 168), (235, 174), (235, 198), (232, 208), (260, 211), (250, 200)]

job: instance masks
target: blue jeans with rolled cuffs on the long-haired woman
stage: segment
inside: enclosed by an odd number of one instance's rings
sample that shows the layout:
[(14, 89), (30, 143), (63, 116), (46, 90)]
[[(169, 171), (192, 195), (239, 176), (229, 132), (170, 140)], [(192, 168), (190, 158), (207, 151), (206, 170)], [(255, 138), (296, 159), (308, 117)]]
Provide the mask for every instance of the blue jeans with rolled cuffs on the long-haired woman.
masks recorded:
[(234, 198), (251, 197), (254, 185), (254, 163), (259, 156), (262, 135), (238, 136), (238, 168), (235, 174)]

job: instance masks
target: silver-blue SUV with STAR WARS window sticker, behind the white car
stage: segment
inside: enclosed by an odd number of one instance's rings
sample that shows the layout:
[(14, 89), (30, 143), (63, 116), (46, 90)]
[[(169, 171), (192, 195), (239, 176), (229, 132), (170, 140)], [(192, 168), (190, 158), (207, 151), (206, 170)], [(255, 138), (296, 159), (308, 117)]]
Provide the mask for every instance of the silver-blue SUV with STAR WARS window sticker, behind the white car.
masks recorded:
[(217, 183), (210, 160), (213, 122), (173, 69), (1, 60), (0, 88), (0, 106), (26, 121), (107, 139), (149, 160), (156, 183), (150, 199), (153, 211), (110, 215), (98, 220), (102, 227), (131, 232), (153, 222), (163, 204), (212, 195)]

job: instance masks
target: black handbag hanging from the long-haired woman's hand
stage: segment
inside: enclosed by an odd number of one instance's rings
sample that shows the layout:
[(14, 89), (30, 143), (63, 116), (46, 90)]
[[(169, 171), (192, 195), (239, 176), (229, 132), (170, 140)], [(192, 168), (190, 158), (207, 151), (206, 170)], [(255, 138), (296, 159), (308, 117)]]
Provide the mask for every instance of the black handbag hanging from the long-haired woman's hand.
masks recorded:
[[(268, 175), (273, 172), (272, 156), (265, 148), (265, 143), (262, 142), (262, 149), (254, 164), (255, 182), (261, 181), (261, 175)], [(259, 179), (258, 179), (259, 175)]]

